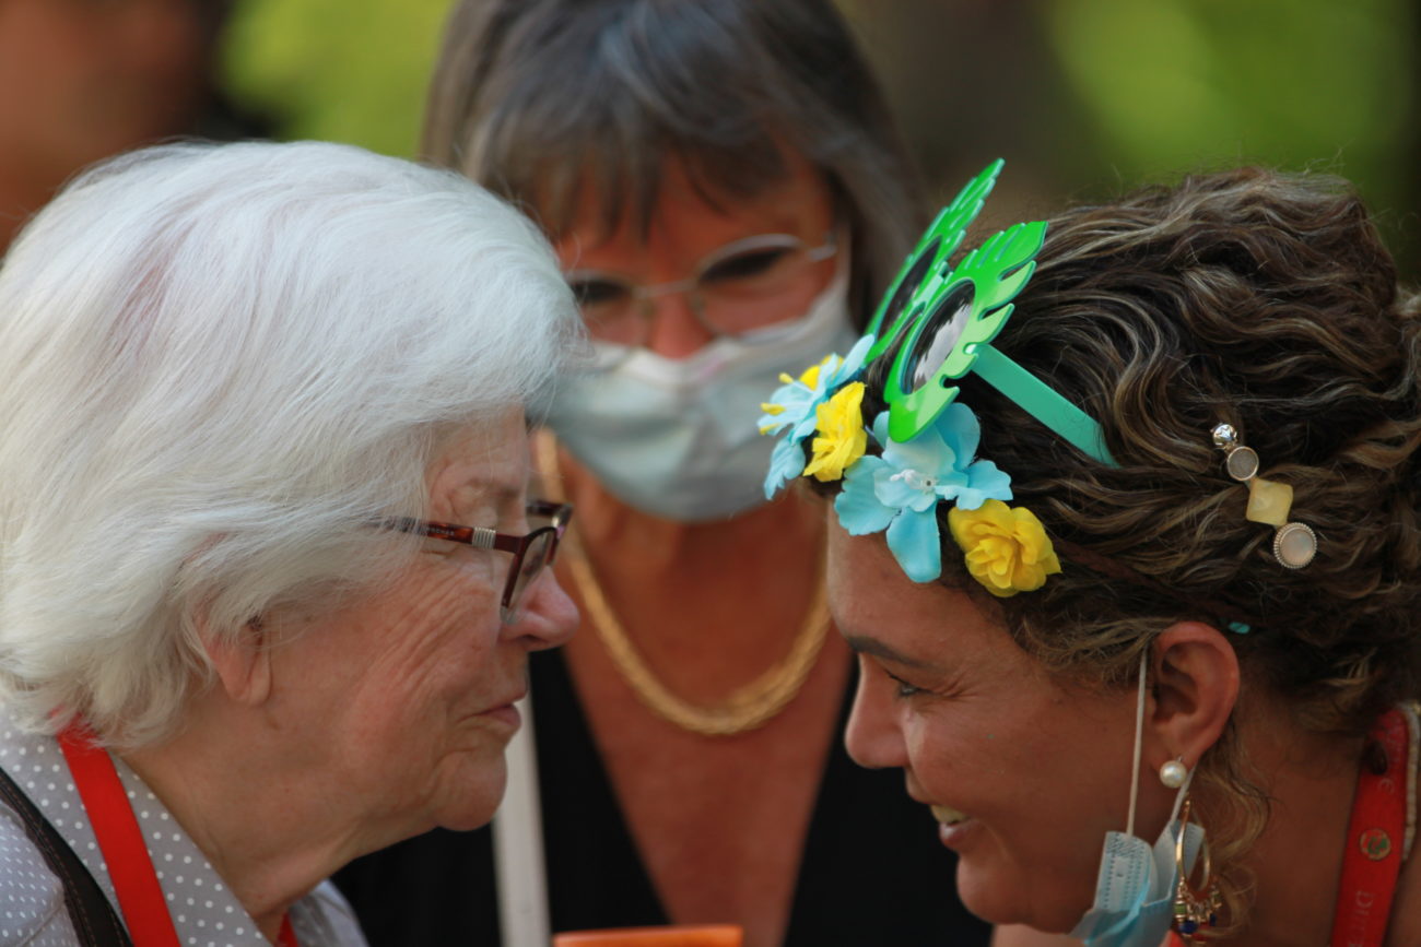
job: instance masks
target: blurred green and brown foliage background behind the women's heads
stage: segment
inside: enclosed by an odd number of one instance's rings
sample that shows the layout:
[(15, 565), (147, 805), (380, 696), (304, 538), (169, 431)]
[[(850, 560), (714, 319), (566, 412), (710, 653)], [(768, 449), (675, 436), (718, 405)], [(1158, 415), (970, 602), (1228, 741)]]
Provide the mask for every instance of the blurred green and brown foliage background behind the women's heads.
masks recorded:
[[(763, 0), (773, 3), (774, 0)], [(229, 92), (287, 138), (414, 155), (450, 0), (239, 0)], [(992, 213), (1239, 163), (1350, 177), (1421, 275), (1414, 0), (840, 0), (935, 197)]]

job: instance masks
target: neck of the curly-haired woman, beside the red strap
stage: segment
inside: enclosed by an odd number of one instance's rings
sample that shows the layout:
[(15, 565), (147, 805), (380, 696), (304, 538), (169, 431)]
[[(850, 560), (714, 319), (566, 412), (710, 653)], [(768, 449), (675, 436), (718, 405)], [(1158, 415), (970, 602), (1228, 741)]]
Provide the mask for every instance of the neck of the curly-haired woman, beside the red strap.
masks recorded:
[(1255, 896), (1235, 943), (1317, 943), (1331, 931), (1361, 743), (1303, 733), (1283, 720), (1246, 730), (1253, 772), (1269, 774), (1270, 811), (1245, 862)]

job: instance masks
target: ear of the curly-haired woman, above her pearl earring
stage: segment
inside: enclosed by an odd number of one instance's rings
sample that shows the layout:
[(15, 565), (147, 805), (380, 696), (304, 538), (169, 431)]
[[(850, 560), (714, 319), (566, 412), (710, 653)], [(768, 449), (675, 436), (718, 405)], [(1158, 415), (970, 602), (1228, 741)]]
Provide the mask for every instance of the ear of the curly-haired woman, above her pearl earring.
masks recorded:
[[(1189, 770), (1218, 743), (1239, 696), (1239, 660), (1222, 632), (1177, 622), (1154, 642), (1154, 700), (1145, 728), (1148, 770), (1184, 758)], [(1158, 757), (1158, 758), (1154, 758)]]

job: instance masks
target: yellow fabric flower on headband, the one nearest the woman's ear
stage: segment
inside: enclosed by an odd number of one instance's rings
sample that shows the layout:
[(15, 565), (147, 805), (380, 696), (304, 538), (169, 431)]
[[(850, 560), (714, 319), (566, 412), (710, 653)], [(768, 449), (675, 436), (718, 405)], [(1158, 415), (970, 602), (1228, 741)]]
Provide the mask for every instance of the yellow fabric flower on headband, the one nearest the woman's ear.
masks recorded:
[(948, 528), (966, 554), (968, 572), (998, 598), (1032, 592), (1061, 571), (1042, 521), (1025, 507), (988, 500), (976, 510), (953, 507)]

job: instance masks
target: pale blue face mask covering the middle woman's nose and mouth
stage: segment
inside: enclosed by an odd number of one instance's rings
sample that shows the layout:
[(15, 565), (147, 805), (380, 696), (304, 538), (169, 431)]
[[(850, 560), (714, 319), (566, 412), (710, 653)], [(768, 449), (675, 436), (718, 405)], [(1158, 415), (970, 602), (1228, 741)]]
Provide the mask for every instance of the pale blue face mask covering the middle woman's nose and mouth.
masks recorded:
[(597, 481), (630, 507), (698, 522), (764, 503), (774, 439), (760, 436), (764, 392), (857, 334), (848, 321), (848, 260), (801, 319), (759, 338), (718, 338), (689, 358), (595, 344), (611, 368), (564, 383), (549, 425)]

